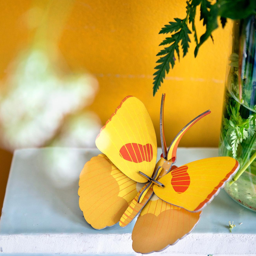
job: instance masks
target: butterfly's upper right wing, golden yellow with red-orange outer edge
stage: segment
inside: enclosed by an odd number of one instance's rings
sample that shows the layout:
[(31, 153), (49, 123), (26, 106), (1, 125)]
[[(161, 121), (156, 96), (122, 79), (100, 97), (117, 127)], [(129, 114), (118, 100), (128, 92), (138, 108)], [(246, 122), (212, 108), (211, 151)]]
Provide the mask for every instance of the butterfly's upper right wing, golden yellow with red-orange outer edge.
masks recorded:
[(239, 169), (232, 157), (205, 158), (180, 166), (154, 185), (155, 194), (170, 204), (188, 211), (201, 211)]

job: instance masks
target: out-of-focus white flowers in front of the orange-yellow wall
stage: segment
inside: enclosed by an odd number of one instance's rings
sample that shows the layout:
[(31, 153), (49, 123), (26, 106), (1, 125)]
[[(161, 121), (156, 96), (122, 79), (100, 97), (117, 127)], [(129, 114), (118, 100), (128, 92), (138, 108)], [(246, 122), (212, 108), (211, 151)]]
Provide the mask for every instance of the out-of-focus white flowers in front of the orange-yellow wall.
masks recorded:
[(92, 103), (97, 80), (88, 74), (63, 74), (41, 50), (23, 54), (16, 63), (4, 81), (8, 91), (0, 95), (4, 147), (14, 150), (43, 146), (62, 130), (58, 144), (95, 146), (100, 126), (96, 115), (83, 112), (71, 118), (69, 124), (64, 117)]

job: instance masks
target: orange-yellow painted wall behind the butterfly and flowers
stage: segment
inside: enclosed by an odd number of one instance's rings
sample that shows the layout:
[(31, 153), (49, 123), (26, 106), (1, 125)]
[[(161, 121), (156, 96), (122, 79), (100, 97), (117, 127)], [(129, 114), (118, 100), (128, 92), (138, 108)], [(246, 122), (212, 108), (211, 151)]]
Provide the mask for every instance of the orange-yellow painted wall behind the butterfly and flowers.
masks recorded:
[[(166, 93), (167, 145), (191, 119), (210, 109), (211, 115), (196, 124), (180, 145), (218, 146), (229, 27), (215, 31), (214, 44), (208, 40), (196, 59), (192, 42), (188, 55), (177, 62), (153, 97), (156, 54), (165, 37), (158, 32), (174, 17), (185, 17), (185, 5), (185, 0), (1, 1), (0, 78), (5, 77), (9, 63), (20, 50), (29, 48), (35, 40), (36, 25), (46, 22), (45, 39), (56, 37), (67, 69), (87, 70), (98, 79), (98, 94), (89, 109), (99, 115), (102, 124), (126, 95), (134, 95), (145, 103), (160, 145), (159, 108), (161, 95)], [(30, 19), (31, 27), (24, 17)], [(201, 22), (197, 24), (202, 34), (204, 28)], [(0, 89), (4, 86), (1, 84)], [(10, 160), (0, 159), (1, 172), (7, 176)]]

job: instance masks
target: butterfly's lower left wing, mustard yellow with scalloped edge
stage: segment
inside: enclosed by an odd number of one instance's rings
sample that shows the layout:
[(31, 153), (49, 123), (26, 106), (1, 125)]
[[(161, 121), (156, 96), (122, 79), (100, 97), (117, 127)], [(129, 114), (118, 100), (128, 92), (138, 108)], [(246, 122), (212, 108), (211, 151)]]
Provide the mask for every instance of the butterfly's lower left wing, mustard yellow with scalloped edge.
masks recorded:
[(92, 157), (79, 179), (79, 206), (86, 221), (95, 229), (119, 222), (137, 195), (136, 184), (105, 155)]

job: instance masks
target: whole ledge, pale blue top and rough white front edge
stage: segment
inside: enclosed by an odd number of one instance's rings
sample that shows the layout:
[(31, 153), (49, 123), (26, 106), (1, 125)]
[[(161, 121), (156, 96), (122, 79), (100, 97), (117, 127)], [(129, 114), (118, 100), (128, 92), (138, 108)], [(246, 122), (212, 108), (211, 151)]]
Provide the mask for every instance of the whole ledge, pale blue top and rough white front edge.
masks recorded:
[[(217, 156), (217, 152), (217, 148), (179, 148), (177, 165)], [(78, 177), (83, 165), (97, 154), (97, 149), (77, 148), (15, 151), (0, 220), (0, 255), (140, 255), (132, 250), (134, 222), (127, 228), (115, 225), (94, 230), (79, 209)], [(255, 212), (240, 206), (221, 190), (203, 210), (192, 233), (151, 255), (256, 255), (255, 220)], [(228, 221), (236, 224), (232, 233)]]

